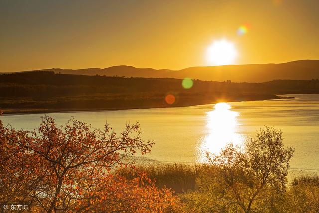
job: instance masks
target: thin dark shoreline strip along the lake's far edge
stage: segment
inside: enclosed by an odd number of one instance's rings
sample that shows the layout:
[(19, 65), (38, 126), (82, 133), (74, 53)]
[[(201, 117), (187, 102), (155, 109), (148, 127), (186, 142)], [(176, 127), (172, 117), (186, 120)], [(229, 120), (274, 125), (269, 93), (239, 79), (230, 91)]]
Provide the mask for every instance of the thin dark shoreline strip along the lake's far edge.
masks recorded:
[[(291, 99), (295, 97), (286, 97), (279, 95), (258, 95), (258, 96), (248, 96), (245, 100), (233, 99), (233, 100), (223, 100), (223, 102), (241, 102), (241, 101), (263, 101), (263, 100), (277, 100), (277, 99)], [(92, 112), (92, 111), (115, 111), (115, 110), (129, 110), (129, 109), (156, 109), (156, 108), (170, 108), (170, 107), (188, 107), (188, 106), (198, 106), (206, 104), (216, 104), (220, 101), (215, 102), (203, 102), (194, 104), (175, 104), (172, 106), (167, 105), (154, 105), (154, 106), (139, 106), (139, 107), (106, 107), (106, 108), (68, 108), (68, 109), (0, 109), (3, 111), (2, 115), (23, 115), (23, 114), (43, 114), (43, 113), (55, 113), (55, 112)]]

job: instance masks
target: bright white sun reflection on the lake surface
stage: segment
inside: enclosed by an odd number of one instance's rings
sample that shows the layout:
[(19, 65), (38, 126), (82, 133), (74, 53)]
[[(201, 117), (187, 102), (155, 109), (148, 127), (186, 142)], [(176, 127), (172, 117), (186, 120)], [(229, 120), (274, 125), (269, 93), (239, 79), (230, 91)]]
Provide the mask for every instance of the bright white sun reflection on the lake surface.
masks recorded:
[(218, 154), (228, 143), (242, 144), (243, 136), (236, 133), (238, 116), (227, 103), (215, 104), (214, 109), (207, 112), (208, 133), (198, 148), (198, 162), (206, 161), (206, 151)]

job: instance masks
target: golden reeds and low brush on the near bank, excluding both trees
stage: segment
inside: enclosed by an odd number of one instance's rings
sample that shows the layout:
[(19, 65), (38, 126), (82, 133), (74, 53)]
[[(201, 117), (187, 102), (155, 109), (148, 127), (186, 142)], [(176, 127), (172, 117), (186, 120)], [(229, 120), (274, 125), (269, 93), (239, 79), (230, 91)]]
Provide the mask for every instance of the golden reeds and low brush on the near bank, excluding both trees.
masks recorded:
[[(162, 164), (156, 166), (140, 166), (138, 170), (145, 171), (155, 180), (155, 186), (171, 188), (184, 212), (245, 212), (239, 206), (231, 206), (230, 198), (226, 199), (217, 190), (226, 193), (226, 186), (220, 185), (220, 179), (208, 178), (208, 174), (216, 174), (209, 165), (196, 164)], [(130, 178), (132, 171), (123, 170), (120, 174)], [(237, 183), (236, 183), (237, 184)], [(218, 188), (221, 186), (222, 188)], [(239, 193), (244, 194), (244, 189)], [(242, 190), (242, 191), (241, 191)], [(226, 203), (225, 203), (226, 202)], [(299, 176), (286, 183), (283, 191), (265, 189), (253, 203), (250, 212), (268, 213), (318, 213), (319, 212), (319, 176)]]

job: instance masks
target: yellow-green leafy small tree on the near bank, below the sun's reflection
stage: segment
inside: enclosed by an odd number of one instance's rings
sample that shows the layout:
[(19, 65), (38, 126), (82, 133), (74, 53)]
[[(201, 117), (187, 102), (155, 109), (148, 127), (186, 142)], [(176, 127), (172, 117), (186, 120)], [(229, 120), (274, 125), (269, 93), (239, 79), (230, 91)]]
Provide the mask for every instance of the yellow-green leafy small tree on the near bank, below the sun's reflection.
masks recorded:
[(284, 191), (293, 148), (285, 148), (282, 132), (265, 127), (244, 147), (229, 144), (219, 155), (207, 153), (214, 168), (212, 192), (216, 203), (231, 211), (263, 212), (267, 197)]

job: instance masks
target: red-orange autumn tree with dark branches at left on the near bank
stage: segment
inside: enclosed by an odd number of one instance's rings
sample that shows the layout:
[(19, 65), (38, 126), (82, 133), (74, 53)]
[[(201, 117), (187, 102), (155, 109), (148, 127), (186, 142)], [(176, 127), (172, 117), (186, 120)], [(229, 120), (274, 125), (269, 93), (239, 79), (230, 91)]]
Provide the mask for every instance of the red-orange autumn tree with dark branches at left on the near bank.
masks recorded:
[(41, 212), (162, 212), (174, 205), (168, 189), (157, 189), (145, 174), (114, 176), (132, 167), (127, 156), (150, 151), (139, 124), (117, 136), (74, 119), (57, 126), (42, 117), (34, 131), (16, 130), (0, 120), (0, 201), (30, 202)]

